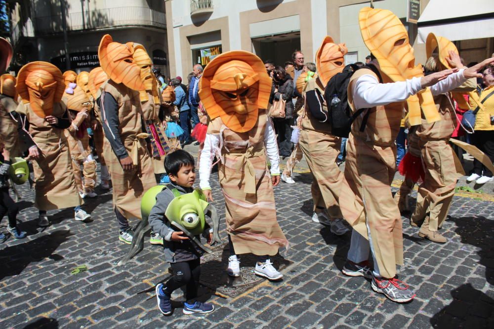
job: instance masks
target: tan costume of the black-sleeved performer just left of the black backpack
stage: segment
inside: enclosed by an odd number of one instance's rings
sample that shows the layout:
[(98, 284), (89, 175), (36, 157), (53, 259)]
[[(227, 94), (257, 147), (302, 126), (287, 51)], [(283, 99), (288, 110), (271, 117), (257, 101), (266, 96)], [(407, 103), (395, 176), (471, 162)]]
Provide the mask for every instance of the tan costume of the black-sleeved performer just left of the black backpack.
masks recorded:
[[(305, 93), (314, 89), (324, 95), (324, 86), (319, 78), (307, 82), (302, 96), (305, 98)], [(324, 104), (323, 109), (328, 110)], [(314, 211), (319, 213), (326, 210), (330, 219), (341, 218), (338, 199), (343, 173), (336, 165), (341, 138), (331, 135), (329, 124), (312, 118), (308, 109), (302, 114), (301, 126), (298, 145), (313, 176), (311, 194)]]

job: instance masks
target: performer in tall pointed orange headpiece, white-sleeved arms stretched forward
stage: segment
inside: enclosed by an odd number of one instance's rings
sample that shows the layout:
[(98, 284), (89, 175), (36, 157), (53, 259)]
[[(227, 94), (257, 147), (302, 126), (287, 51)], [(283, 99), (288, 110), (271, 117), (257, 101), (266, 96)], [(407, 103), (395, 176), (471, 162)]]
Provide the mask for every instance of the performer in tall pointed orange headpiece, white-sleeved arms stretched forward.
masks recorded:
[(437, 121), (431, 90), (447, 90), (473, 74), (454, 69), (424, 76), (420, 65), (412, 65), (415, 58), (405, 27), (389, 10), (362, 8), (359, 24), (373, 68), (356, 71), (348, 84), (348, 104), (361, 114), (352, 123), (340, 194), (341, 211), (354, 229), (343, 273), (371, 278), (372, 290), (403, 303), (415, 293), (396, 278), (396, 265), (403, 264), (403, 235), (390, 185), (404, 101), (411, 125), (421, 123), (420, 109), (428, 122)]

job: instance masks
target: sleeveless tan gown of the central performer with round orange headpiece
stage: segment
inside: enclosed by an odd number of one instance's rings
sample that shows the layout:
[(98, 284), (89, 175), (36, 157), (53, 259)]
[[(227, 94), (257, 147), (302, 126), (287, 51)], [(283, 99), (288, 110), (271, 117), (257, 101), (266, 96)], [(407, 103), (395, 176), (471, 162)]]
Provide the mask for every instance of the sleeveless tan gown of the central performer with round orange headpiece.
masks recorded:
[[(218, 163), (218, 175), (225, 196), (227, 230), (236, 254), (273, 256), (288, 245), (276, 220), (273, 186), (266, 164), (266, 120), (266, 111), (259, 110), (256, 124), (245, 133), (227, 129), (221, 117), (211, 120), (207, 128), (208, 134), (219, 134), (223, 140), (224, 161)], [(255, 182), (255, 193), (244, 191), (249, 180)]]

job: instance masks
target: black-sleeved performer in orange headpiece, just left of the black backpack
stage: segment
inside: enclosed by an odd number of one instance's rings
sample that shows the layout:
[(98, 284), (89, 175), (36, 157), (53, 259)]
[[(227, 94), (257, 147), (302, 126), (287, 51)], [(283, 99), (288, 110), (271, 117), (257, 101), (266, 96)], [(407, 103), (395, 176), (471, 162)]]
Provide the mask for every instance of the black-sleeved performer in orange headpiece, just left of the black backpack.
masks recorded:
[(312, 221), (329, 225), (331, 232), (336, 235), (349, 231), (338, 205), (343, 173), (336, 164), (336, 158), (340, 152), (341, 138), (331, 135), (328, 106), (320, 100), (329, 79), (342, 72), (346, 53), (345, 44), (336, 44), (329, 36), (324, 38), (316, 52), (318, 74), (316, 78), (307, 81), (302, 91), (305, 107), (298, 141), (313, 177)]

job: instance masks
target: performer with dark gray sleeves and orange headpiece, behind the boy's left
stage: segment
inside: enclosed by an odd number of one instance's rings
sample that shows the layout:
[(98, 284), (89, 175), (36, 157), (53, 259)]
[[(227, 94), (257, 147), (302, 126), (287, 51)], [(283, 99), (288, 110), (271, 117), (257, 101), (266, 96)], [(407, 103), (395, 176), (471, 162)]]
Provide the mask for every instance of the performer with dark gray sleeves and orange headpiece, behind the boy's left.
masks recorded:
[(128, 219), (141, 219), (141, 198), (156, 185), (148, 151), (139, 91), (146, 87), (134, 62), (134, 43), (101, 39), (98, 57), (109, 80), (101, 86), (99, 108), (105, 137), (103, 154), (113, 184), (113, 204), (119, 222), (119, 240), (131, 244), (133, 229)]

